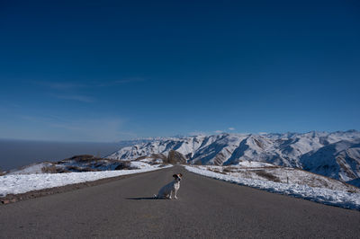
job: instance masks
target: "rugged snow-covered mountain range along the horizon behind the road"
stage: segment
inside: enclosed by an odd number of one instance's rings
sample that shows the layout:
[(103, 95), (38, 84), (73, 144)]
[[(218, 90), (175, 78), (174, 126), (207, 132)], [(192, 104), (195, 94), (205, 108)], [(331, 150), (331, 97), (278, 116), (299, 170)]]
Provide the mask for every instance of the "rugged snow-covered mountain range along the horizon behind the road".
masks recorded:
[(175, 151), (188, 164), (229, 165), (243, 161), (303, 168), (341, 181), (360, 177), (360, 132), (220, 134), (171, 137), (127, 146), (108, 155), (115, 160), (159, 158), (170, 160)]

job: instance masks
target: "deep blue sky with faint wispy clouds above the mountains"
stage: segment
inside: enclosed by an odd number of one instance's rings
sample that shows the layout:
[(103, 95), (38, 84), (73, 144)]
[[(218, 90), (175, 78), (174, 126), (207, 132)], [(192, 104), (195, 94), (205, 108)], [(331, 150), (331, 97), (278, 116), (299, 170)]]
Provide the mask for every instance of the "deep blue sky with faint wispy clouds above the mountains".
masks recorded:
[(7, 1), (0, 137), (360, 129), (358, 1)]

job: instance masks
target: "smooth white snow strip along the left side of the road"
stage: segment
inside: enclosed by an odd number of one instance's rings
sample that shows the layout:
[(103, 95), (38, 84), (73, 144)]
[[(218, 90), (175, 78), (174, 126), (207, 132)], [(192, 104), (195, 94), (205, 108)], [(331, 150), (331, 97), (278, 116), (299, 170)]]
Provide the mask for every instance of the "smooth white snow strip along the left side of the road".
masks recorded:
[(0, 176), (0, 197), (7, 194), (19, 194), (31, 190), (43, 190), (75, 184), (85, 181), (96, 181), (104, 178), (112, 178), (133, 173), (144, 173), (172, 167), (148, 166), (135, 170), (116, 170), (85, 173), (41, 173), (41, 174), (8, 174)]

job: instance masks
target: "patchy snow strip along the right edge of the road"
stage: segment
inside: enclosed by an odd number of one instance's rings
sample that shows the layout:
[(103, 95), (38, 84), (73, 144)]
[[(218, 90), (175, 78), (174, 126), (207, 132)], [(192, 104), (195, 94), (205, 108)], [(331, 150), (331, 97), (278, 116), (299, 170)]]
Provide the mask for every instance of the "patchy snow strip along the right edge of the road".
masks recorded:
[(237, 183), (260, 190), (290, 195), (300, 199), (308, 199), (327, 205), (338, 206), (341, 208), (351, 208), (360, 210), (360, 193), (351, 193), (342, 190), (329, 190), (321, 188), (312, 188), (308, 185), (296, 183), (284, 183), (275, 181), (262, 181), (256, 179), (239, 178), (222, 173), (214, 173), (207, 169), (201, 169), (194, 166), (184, 166), (189, 172), (198, 173), (203, 176), (211, 177), (221, 181)]

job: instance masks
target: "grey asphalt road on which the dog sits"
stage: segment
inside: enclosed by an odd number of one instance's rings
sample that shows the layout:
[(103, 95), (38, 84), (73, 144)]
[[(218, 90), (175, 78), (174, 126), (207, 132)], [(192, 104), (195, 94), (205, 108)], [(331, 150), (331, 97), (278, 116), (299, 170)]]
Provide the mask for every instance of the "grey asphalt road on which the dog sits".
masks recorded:
[[(151, 199), (183, 173), (177, 200)], [(1, 238), (359, 238), (360, 212), (181, 166), (0, 207)]]

